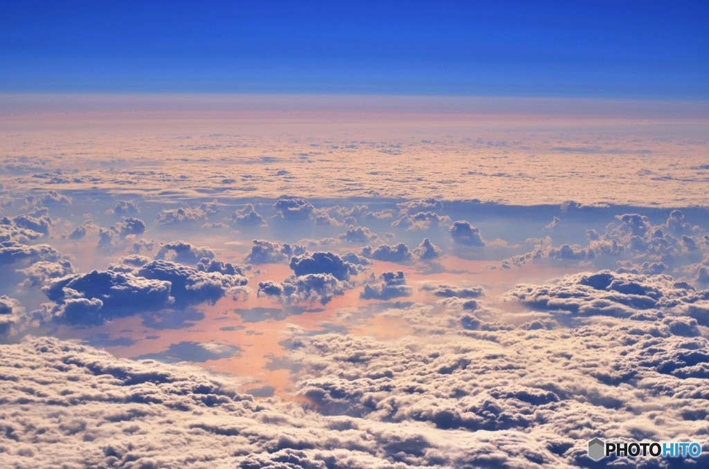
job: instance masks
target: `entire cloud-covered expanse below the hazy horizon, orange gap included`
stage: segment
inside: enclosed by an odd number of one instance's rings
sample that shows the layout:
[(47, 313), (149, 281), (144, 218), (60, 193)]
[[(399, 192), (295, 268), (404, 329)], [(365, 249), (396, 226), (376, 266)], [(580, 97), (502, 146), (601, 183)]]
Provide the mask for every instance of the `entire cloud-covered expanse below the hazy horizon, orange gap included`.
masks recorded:
[(195, 116), (0, 130), (1, 466), (709, 465), (702, 120)]

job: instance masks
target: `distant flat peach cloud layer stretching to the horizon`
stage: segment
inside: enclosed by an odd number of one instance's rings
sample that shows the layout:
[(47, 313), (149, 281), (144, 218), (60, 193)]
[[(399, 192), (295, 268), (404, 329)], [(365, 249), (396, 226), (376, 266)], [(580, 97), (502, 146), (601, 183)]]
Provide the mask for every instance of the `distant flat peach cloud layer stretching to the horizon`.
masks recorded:
[[(14, 102), (12, 96), (4, 99)], [(137, 111), (111, 100), (99, 112), (85, 98), (67, 96), (62, 113), (41, 108), (41, 119), (29, 111), (0, 113), (0, 183), (18, 193), (42, 190), (30, 200), (40, 205), (60, 206), (73, 193), (106, 191), (118, 198), (116, 213), (125, 216), (135, 214), (129, 203), (136, 195), (247, 203), (267, 197), (278, 199), (283, 220), (323, 222), (328, 218), (307, 199), (708, 203), (707, 112), (700, 103), (691, 114), (673, 111), (674, 103), (626, 103), (625, 109), (607, 102), (599, 109), (603, 101), (574, 113), (570, 102), (520, 99), (501, 103), (509, 110), (501, 114), (494, 101), (440, 98), (445, 112), (431, 112), (431, 106), (382, 97), (353, 99), (347, 103), (352, 110), (342, 113), (337, 97), (279, 108), (267, 98), (232, 103), (224, 96), (220, 106), (218, 97), (205, 96), (203, 109), (175, 97), (172, 111), (169, 98), (126, 99)], [(159, 107), (146, 111), (156, 99)], [(75, 111), (66, 113), (72, 103)], [(133, 125), (136, 119), (140, 128)], [(64, 198), (52, 195), (60, 192)], [(249, 206), (234, 210), (230, 222), (262, 225), (259, 210)], [(165, 226), (201, 225), (209, 210), (174, 205), (162, 208), (158, 220)], [(421, 206), (392, 222), (412, 230), (447, 222), (433, 215), (435, 210)]]

